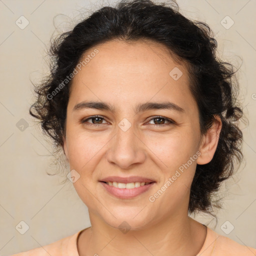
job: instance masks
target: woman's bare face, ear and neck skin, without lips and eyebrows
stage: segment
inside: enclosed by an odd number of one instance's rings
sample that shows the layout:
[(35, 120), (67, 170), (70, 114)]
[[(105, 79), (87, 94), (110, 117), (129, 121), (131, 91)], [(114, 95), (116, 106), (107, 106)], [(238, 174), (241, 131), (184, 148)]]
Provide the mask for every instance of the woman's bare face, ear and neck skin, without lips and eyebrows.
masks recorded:
[[(221, 121), (216, 117), (201, 136), (186, 65), (176, 63), (163, 45), (150, 40), (111, 40), (96, 48), (99, 52), (73, 78), (63, 137), (70, 170), (80, 175), (73, 185), (88, 207), (91, 222), (78, 237), (78, 253), (195, 255), (203, 245), (206, 229), (187, 214), (190, 185), (196, 163), (208, 163), (213, 157)], [(169, 75), (174, 67), (182, 71), (178, 80)], [(115, 112), (92, 108), (74, 111), (74, 105), (84, 100), (106, 102), (115, 107)], [(170, 101), (184, 111), (135, 112), (136, 104), (148, 101)], [(93, 115), (104, 119), (81, 123)], [(157, 115), (175, 123), (167, 125), (168, 120), (158, 120)], [(126, 131), (118, 126), (123, 118), (131, 124)], [(89, 125), (93, 123), (95, 126)], [(197, 151), (200, 156), (150, 202), (148, 197)], [(119, 199), (98, 181), (109, 175), (139, 175), (156, 183), (135, 198)], [(118, 228), (123, 221), (130, 226), (126, 233)]]

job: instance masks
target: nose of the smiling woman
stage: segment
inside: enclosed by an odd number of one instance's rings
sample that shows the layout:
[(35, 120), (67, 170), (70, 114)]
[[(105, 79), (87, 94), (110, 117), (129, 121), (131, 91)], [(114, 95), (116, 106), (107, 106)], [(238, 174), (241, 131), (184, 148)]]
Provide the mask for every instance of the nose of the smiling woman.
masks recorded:
[(145, 161), (145, 145), (133, 127), (126, 131), (117, 127), (115, 136), (109, 141), (106, 152), (107, 161), (121, 169), (129, 169), (132, 164)]

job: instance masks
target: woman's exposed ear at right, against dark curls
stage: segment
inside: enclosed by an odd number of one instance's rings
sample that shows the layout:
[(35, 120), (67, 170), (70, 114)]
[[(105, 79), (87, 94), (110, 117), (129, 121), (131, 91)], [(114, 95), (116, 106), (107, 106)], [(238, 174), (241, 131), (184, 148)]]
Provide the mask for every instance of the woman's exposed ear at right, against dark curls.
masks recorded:
[(213, 120), (211, 127), (207, 130), (206, 134), (202, 136), (199, 146), (201, 154), (197, 158), (198, 164), (210, 162), (217, 148), (222, 122), (218, 115), (215, 115), (214, 117), (215, 119)]

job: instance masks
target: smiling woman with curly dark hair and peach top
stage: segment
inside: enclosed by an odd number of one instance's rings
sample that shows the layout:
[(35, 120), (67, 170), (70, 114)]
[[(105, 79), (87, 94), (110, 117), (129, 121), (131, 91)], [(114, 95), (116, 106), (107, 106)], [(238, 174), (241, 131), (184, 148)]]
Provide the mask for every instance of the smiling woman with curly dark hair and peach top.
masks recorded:
[(15, 255), (256, 255), (211, 213), (241, 161), (232, 65), (209, 27), (150, 0), (103, 7), (52, 43), (30, 114), (63, 149), (91, 227)]

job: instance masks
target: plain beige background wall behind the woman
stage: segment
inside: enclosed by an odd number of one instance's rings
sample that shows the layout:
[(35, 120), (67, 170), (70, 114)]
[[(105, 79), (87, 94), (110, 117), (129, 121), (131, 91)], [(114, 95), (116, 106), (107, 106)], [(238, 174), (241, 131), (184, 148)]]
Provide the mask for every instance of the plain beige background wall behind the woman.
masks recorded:
[[(249, 120), (247, 127), (241, 123), (245, 159), (239, 172), (222, 186), (224, 209), (216, 212), (217, 222), (205, 214), (195, 218), (221, 235), (256, 248), (256, 2), (177, 2), (185, 16), (211, 26), (220, 57), (236, 67), (241, 65), (240, 98)], [(49, 152), (51, 144), (28, 114), (33, 101), (29, 78), (36, 82), (47, 71), (45, 45), (51, 34), (68, 30), (74, 20), (82, 17), (82, 12), (94, 10), (100, 4), (101, 1), (95, 0), (0, 0), (0, 255), (39, 247), (90, 226), (87, 207), (72, 183), (59, 184), (60, 176), (46, 174), (46, 171), (54, 172), (56, 167), (50, 165), (54, 159)], [(24, 29), (15, 24), (21, 15), (29, 21)], [(229, 29), (220, 23), (227, 15), (234, 21)], [(225, 18), (224, 22), (229, 25), (231, 20)], [(20, 130), (24, 124), (22, 118), (29, 125), (23, 131)], [(23, 235), (15, 229), (21, 220), (29, 226)], [(227, 229), (231, 224), (234, 226), (229, 234), (221, 229), (227, 220), (230, 222)]]

